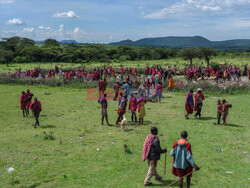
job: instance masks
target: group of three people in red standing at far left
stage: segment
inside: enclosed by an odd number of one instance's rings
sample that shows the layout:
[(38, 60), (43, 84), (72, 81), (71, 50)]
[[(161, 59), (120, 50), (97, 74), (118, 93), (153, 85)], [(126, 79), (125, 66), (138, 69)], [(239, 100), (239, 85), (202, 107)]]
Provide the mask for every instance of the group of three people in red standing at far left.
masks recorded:
[(35, 97), (32, 101), (33, 94), (28, 89), (27, 92), (22, 91), (20, 95), (21, 110), (23, 111), (23, 117), (29, 117), (29, 110), (32, 110), (32, 113), (35, 117), (34, 128), (40, 125), (39, 115), (42, 111), (42, 105), (39, 100)]

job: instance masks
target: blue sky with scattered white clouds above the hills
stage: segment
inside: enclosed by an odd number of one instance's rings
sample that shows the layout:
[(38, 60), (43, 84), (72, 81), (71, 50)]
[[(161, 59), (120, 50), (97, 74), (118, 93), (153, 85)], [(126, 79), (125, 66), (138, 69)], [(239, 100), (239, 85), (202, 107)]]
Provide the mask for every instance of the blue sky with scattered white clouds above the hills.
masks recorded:
[(250, 39), (250, 0), (0, 0), (0, 37)]

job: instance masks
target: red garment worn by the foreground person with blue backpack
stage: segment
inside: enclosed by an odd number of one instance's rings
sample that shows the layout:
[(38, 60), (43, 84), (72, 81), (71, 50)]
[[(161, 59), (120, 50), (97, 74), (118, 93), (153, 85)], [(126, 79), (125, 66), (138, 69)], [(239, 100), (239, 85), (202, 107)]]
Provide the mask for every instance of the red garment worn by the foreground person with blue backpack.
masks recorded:
[[(178, 141), (174, 143), (174, 145), (173, 145), (172, 148), (174, 149), (176, 146), (178, 146)], [(187, 148), (187, 150), (192, 155), (192, 150), (191, 150), (191, 144), (190, 143), (188, 143), (186, 145), (186, 148)], [(172, 174), (174, 174), (175, 176), (177, 176), (177, 177), (183, 177), (186, 174), (188, 174), (188, 173), (190, 173), (190, 172), (193, 171), (193, 167), (191, 165), (189, 165), (188, 168), (186, 168), (186, 169), (174, 168), (174, 161), (175, 161), (175, 158), (173, 160), (173, 166), (172, 166)], [(190, 175), (188, 175), (188, 177), (192, 177), (192, 173)]]

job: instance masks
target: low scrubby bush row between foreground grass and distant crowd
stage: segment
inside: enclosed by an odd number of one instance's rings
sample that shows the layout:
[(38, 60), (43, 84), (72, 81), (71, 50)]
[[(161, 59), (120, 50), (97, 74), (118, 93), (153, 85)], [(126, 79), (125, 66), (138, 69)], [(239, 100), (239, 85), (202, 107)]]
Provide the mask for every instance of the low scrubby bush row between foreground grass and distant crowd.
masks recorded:
[[(108, 78), (108, 88), (113, 88), (115, 83), (114, 78)], [(140, 82), (143, 82), (143, 78), (140, 78), (137, 84), (133, 84), (132, 88), (138, 88)], [(174, 91), (188, 91), (190, 88), (197, 89), (203, 88), (207, 92), (212, 92), (214, 95), (220, 94), (234, 94), (234, 93), (243, 93), (250, 90), (250, 85), (248, 83), (232, 83), (230, 85), (217, 85), (211, 84), (208, 81), (199, 81), (196, 83), (183, 82), (182, 79), (175, 79), (176, 86)], [(70, 86), (73, 88), (97, 88), (97, 81), (88, 81), (82, 79), (64, 79), (64, 78), (15, 78), (7, 75), (0, 75), (0, 84), (22, 84), (22, 85), (47, 85), (47, 86)], [(168, 82), (163, 84), (163, 88), (168, 88)]]

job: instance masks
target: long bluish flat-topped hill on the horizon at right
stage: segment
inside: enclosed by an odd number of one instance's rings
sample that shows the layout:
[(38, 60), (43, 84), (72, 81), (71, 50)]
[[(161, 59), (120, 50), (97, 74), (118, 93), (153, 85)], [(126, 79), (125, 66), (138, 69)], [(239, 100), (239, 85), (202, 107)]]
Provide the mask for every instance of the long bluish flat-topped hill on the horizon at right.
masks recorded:
[(250, 48), (250, 39), (236, 39), (226, 41), (210, 41), (201, 36), (193, 37), (156, 37), (143, 38), (140, 40), (123, 40), (120, 42), (110, 43), (112, 45), (128, 45), (128, 46), (154, 46), (169, 48), (186, 48), (186, 47), (212, 47), (218, 49), (246, 49)]

